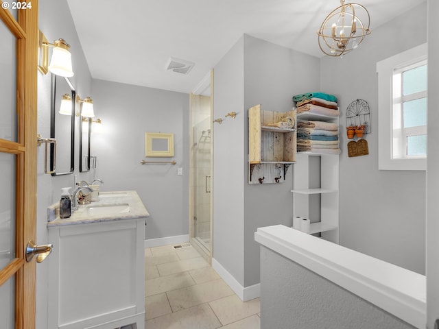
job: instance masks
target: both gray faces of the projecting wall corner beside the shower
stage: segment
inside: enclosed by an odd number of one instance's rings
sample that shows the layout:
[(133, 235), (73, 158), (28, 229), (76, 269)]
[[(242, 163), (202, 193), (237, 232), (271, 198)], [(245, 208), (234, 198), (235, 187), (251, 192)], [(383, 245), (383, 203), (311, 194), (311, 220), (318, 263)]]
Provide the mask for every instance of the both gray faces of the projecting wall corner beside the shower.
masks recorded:
[(214, 76), (213, 116), (238, 114), (214, 126), (213, 258), (249, 287), (259, 283), (256, 229), (292, 225), (292, 168), (283, 184), (248, 184), (248, 108), (260, 103), (263, 110), (291, 110), (296, 91), (318, 89), (319, 60), (244, 35)]

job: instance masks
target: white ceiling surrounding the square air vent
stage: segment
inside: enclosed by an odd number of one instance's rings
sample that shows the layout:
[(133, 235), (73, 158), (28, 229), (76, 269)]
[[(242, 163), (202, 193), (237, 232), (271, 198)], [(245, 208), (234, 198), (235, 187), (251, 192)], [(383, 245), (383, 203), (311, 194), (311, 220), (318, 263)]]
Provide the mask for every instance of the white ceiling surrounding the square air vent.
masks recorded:
[[(370, 13), (373, 35), (379, 25), (425, 1), (359, 3)], [(316, 32), (340, 5), (338, 0), (67, 2), (93, 78), (182, 93), (195, 90), (243, 34), (323, 56)], [(187, 75), (168, 71), (170, 57), (195, 66)]]

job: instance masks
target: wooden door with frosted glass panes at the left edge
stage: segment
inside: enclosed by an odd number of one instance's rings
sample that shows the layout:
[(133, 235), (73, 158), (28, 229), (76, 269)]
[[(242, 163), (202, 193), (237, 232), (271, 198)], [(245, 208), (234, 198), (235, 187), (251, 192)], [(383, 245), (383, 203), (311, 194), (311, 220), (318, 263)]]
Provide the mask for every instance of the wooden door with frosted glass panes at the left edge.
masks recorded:
[(36, 236), (38, 0), (16, 10), (12, 1), (0, 4), (0, 302), (7, 313), (0, 318), (2, 328), (32, 329), (36, 265), (26, 262), (25, 247)]

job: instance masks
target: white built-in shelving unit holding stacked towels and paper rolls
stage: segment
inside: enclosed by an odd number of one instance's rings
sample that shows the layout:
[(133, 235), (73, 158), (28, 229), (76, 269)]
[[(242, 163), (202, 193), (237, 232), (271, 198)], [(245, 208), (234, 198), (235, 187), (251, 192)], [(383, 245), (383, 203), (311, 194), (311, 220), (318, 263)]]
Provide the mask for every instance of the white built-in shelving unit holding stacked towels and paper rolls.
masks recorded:
[[(297, 119), (337, 122), (338, 118), (297, 114)], [(298, 152), (294, 164), (294, 217), (311, 220), (309, 234), (339, 243), (339, 155)]]

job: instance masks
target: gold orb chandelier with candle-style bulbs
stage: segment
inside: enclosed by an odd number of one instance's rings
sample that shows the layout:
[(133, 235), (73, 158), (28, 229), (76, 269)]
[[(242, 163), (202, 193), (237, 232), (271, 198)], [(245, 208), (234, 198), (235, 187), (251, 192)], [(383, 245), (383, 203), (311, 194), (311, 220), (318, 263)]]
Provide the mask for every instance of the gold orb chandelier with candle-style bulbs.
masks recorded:
[(368, 10), (358, 3), (335, 8), (318, 30), (318, 45), (329, 56), (343, 56), (353, 51), (370, 34)]

